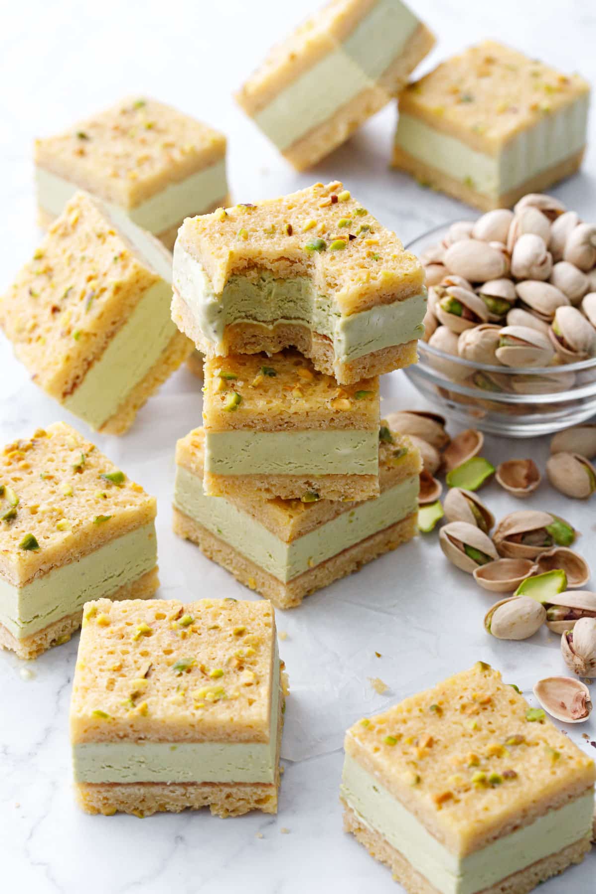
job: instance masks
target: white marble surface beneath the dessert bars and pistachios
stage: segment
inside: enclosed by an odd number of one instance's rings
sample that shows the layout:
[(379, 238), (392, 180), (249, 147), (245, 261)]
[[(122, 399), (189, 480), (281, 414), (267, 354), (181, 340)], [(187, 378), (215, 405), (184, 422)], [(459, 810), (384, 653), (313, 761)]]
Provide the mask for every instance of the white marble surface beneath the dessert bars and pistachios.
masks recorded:
[[(407, 241), (460, 215), (448, 198), (421, 190), (386, 160), (394, 110), (370, 122), (315, 172), (298, 175), (231, 101), (243, 75), (288, 26), (315, 8), (279, 0), (146, 0), (101, 4), (21, 0), (0, 16), (0, 288), (38, 240), (34, 225), (31, 140), (77, 117), (139, 92), (180, 105), (230, 136), (234, 196), (250, 201), (315, 179), (342, 178), (366, 206)], [(596, 13), (582, 2), (419, 0), (414, 4), (441, 43), (426, 65), (479, 38), (509, 40), (564, 70), (594, 80)], [(325, 89), (322, 84), (320, 89)], [(592, 129), (593, 133), (593, 129)], [(556, 194), (588, 219), (596, 217), (596, 156)], [(469, 214), (469, 211), (467, 212)], [(422, 407), (404, 375), (383, 382), (384, 408)], [(0, 343), (0, 443), (67, 415), (29, 382), (4, 340)], [(72, 422), (72, 419), (68, 419)], [(164, 597), (250, 598), (243, 588), (170, 531), (172, 451), (176, 438), (200, 421), (200, 389), (180, 370), (149, 401), (125, 438), (99, 446), (159, 499), (158, 533)], [(84, 429), (82, 423), (74, 424)], [(546, 443), (490, 439), (487, 456), (533, 455), (543, 466)], [(491, 484), (483, 497), (499, 517), (517, 508)], [(554, 510), (583, 531), (579, 549), (596, 559), (594, 510), (558, 498), (547, 485), (526, 503)], [(448, 567), (436, 535), (418, 538), (357, 576), (310, 596), (298, 610), (279, 612), (288, 633), (281, 654), (292, 695), (283, 739), (285, 774), (280, 813), (222, 821), (208, 812), (89, 817), (71, 792), (68, 704), (77, 637), (33, 665), (0, 654), (0, 865), (2, 890), (75, 894), (196, 894), (259, 891), (298, 894), (399, 890), (382, 866), (341, 831), (338, 785), (345, 728), (479, 658), (531, 694), (536, 679), (564, 672), (556, 637), (546, 631), (524, 643), (490, 640), (483, 632), (490, 597)], [(375, 657), (375, 652), (382, 657)], [(27, 672), (31, 678), (27, 679)], [(369, 677), (389, 686), (378, 696)], [(532, 701), (532, 696), (530, 695)], [(596, 756), (582, 731), (569, 728)], [(288, 834), (283, 832), (288, 831)], [(596, 858), (550, 881), (545, 894), (594, 890)]]

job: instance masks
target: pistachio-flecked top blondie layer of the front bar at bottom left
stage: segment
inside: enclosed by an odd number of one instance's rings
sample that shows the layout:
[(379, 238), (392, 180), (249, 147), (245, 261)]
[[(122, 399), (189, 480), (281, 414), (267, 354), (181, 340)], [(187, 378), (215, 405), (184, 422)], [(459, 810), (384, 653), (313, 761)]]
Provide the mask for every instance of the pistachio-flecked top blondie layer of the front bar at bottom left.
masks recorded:
[(275, 654), (271, 603), (87, 603), (71, 739), (267, 742)]

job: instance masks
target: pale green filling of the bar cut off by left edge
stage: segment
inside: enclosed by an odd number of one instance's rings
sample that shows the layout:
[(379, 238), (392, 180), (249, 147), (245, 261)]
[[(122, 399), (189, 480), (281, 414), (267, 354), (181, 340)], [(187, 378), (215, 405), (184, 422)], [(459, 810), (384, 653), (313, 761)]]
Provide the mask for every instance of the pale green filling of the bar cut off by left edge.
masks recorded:
[(155, 525), (151, 522), (24, 586), (0, 579), (0, 622), (17, 639), (30, 637), (48, 624), (82, 611), (89, 600), (113, 595), (155, 568), (156, 561)]

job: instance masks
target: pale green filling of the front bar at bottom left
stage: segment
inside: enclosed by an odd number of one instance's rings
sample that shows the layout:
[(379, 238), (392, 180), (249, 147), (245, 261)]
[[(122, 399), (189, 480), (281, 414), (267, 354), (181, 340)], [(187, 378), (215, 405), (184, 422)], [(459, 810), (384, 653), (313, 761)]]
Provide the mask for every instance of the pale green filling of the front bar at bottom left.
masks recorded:
[(85, 742), (72, 746), (75, 781), (273, 783), (279, 680), (276, 645), (268, 742)]

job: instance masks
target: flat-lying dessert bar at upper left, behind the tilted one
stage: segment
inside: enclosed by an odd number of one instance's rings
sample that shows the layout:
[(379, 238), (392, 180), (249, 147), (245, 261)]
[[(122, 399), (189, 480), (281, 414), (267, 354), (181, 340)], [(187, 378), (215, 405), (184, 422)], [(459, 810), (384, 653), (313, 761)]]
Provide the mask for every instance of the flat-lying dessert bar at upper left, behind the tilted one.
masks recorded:
[(226, 140), (155, 99), (128, 98), (35, 143), (39, 223), (81, 189), (172, 249), (189, 215), (226, 203)]

